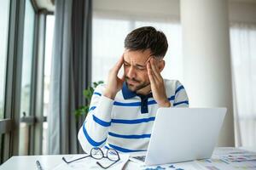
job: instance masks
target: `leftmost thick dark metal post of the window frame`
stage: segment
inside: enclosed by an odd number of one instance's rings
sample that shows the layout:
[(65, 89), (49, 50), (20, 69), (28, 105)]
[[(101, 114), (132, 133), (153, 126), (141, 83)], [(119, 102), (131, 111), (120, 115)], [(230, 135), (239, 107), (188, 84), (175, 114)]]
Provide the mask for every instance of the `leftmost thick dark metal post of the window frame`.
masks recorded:
[[(17, 155), (20, 123), (20, 83), (22, 66), (23, 26), (25, 0), (10, 1), (9, 5), (9, 37), (5, 81), (3, 152), (1, 162)], [(22, 41), (18, 41), (22, 40)], [(20, 43), (21, 42), (21, 43)], [(19, 55), (21, 54), (21, 56)], [(19, 55), (19, 56), (18, 56)], [(4, 125), (3, 125), (4, 126)], [(8, 127), (9, 128), (6, 128)], [(18, 128), (19, 129), (19, 128)]]

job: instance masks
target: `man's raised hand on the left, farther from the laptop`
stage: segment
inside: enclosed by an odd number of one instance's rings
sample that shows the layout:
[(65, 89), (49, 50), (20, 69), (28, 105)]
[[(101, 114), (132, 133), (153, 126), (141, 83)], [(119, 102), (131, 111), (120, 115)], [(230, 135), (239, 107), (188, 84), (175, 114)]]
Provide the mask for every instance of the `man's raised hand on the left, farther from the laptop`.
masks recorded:
[(123, 64), (124, 54), (108, 73), (108, 83), (104, 96), (108, 97), (109, 99), (114, 99), (115, 95), (122, 88), (123, 82), (125, 81), (125, 75), (123, 75), (122, 78), (118, 77), (119, 70)]

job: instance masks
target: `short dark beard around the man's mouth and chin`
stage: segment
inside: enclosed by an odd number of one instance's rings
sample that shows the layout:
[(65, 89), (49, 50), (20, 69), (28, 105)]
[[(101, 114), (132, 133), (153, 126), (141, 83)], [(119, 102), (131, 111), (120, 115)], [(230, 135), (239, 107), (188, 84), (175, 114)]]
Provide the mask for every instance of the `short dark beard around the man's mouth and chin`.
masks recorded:
[[(129, 83), (128, 81), (131, 81), (132, 83)], [(132, 92), (137, 92), (138, 90), (147, 87), (150, 82), (149, 81), (140, 81), (135, 78), (129, 78), (125, 77), (125, 83), (127, 85), (127, 88), (131, 90)]]

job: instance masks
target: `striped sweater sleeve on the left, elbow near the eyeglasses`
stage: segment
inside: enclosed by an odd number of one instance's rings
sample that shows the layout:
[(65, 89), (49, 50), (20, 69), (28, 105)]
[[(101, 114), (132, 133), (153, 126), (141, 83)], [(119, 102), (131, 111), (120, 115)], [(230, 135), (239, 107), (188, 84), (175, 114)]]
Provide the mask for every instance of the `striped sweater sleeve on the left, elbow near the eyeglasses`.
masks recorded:
[(86, 153), (90, 153), (93, 147), (102, 147), (107, 140), (113, 99), (103, 96), (103, 92), (104, 86), (98, 85), (90, 100), (89, 113), (79, 129), (79, 143)]

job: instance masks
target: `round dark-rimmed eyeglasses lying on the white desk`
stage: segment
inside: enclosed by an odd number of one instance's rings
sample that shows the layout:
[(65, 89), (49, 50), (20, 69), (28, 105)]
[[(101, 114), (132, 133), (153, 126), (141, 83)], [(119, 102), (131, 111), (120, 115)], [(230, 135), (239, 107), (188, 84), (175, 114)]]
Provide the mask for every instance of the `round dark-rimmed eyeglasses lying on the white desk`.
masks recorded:
[(96, 160), (101, 160), (101, 159), (103, 159), (103, 158), (107, 158), (108, 160), (113, 161), (113, 162), (112, 162), (109, 166), (107, 166), (107, 167), (102, 166), (102, 164), (101, 164), (99, 161), (96, 161), (96, 164), (98, 164), (100, 167), (102, 167), (102, 168), (104, 168), (104, 169), (108, 169), (108, 167), (113, 166), (113, 164), (115, 164), (116, 162), (118, 162), (118, 161), (120, 160), (119, 153), (118, 153), (117, 150), (108, 149), (108, 150), (107, 150), (107, 154), (106, 154), (106, 156), (105, 156), (104, 153), (103, 153), (103, 151), (102, 151), (102, 149), (100, 149), (100, 148), (98, 148), (98, 147), (92, 148), (92, 149), (90, 150), (90, 155), (89, 155), (89, 156), (79, 157), (79, 158), (74, 159), (74, 160), (72, 160), (72, 161), (67, 161), (67, 160), (65, 159), (65, 157), (62, 157), (62, 160), (65, 161), (67, 164), (69, 164), (69, 163), (72, 163), (72, 162), (74, 162), (74, 161), (79, 161), (79, 160), (81, 160), (81, 159), (84, 159), (84, 158), (86, 158), (86, 157), (92, 157), (92, 158), (94, 158), (94, 159), (96, 159)]

